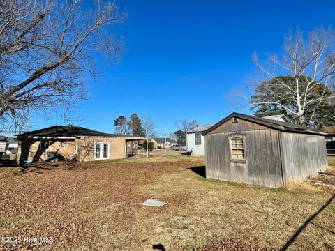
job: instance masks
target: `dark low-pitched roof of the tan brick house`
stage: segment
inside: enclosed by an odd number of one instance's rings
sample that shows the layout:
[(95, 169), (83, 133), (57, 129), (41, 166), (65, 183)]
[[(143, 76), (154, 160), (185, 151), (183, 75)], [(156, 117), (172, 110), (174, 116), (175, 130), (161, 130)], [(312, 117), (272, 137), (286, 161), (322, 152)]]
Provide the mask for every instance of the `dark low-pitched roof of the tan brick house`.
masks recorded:
[(75, 138), (80, 136), (96, 136), (96, 137), (117, 137), (119, 135), (114, 135), (105, 132), (98, 132), (96, 130), (91, 130), (87, 128), (82, 128), (80, 126), (50, 126), (48, 128), (43, 128), (39, 130), (34, 130), (31, 132), (25, 132), (17, 135), (18, 138)]

